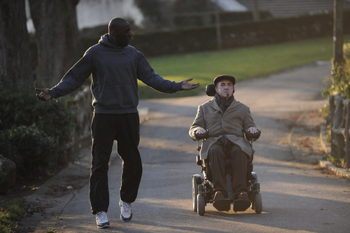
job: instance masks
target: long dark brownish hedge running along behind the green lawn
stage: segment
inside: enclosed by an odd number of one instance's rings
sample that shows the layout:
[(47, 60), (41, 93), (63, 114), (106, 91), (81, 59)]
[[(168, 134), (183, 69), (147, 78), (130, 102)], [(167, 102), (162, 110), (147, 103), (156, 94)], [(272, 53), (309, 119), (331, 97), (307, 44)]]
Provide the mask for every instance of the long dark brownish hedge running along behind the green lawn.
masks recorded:
[[(343, 17), (344, 34), (350, 34), (350, 27), (346, 27), (347, 22), (350, 22), (350, 10), (344, 10)], [(332, 13), (222, 24), (222, 48), (332, 36), (332, 24)], [(83, 47), (87, 49), (96, 44), (99, 36), (82, 37)], [(193, 27), (135, 34), (130, 45), (136, 47), (146, 56), (216, 50), (216, 28), (214, 26)]]

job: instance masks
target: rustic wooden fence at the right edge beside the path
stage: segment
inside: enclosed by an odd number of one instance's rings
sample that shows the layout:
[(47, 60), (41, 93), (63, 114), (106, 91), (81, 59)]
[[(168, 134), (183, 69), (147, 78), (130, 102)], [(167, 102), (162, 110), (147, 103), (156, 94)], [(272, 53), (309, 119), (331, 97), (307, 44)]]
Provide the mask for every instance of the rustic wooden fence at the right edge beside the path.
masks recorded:
[(338, 94), (330, 95), (330, 146), (331, 155), (345, 159), (350, 168), (350, 99)]

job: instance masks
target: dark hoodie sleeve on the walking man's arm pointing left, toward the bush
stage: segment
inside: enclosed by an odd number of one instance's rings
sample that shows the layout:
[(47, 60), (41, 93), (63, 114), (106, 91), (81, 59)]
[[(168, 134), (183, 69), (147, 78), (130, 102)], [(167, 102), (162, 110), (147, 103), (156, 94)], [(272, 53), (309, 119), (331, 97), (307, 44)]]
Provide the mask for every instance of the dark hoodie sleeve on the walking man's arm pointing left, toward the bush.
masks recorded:
[(77, 90), (92, 73), (92, 55), (85, 53), (76, 64), (64, 75), (62, 80), (52, 87), (50, 95), (52, 98), (62, 97)]

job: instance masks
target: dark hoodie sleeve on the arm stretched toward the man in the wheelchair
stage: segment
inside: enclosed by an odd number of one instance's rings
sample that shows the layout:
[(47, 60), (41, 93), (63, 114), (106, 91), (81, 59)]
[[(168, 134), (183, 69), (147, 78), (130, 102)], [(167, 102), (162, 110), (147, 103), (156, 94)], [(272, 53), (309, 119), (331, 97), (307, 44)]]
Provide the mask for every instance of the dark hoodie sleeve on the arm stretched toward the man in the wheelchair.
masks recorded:
[(182, 83), (164, 79), (158, 73), (155, 73), (151, 64), (141, 52), (139, 52), (137, 64), (137, 78), (159, 92), (175, 93), (182, 90)]

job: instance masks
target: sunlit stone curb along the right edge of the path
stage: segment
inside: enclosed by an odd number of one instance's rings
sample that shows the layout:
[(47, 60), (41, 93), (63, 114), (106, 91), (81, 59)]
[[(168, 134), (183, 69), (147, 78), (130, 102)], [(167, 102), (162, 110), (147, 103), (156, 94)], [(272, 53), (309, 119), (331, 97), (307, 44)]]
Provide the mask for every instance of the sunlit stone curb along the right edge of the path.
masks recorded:
[[(327, 154), (330, 155), (330, 146), (328, 146), (328, 134), (327, 134), (327, 127), (325, 123), (323, 122), (320, 128), (320, 143), (321, 147), (323, 148), (323, 151)], [(329, 161), (325, 160), (320, 160), (318, 162), (318, 165), (322, 168), (327, 169), (328, 171), (332, 171), (335, 176), (339, 176), (341, 178), (347, 178), (350, 179), (350, 172), (347, 171), (346, 169), (336, 167), (335, 164), (332, 164)]]

